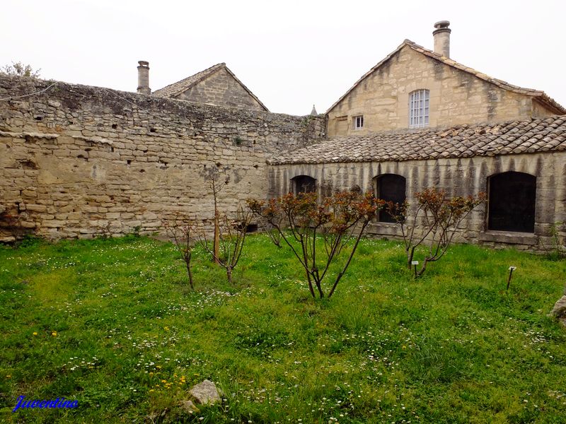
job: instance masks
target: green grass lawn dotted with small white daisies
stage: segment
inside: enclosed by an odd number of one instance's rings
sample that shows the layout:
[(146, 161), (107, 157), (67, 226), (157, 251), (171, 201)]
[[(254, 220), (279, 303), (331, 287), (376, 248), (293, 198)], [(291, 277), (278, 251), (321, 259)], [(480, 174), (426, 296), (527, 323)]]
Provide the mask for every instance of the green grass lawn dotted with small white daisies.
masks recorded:
[[(197, 249), (194, 292), (155, 240), (0, 247), (0, 420), (566, 423), (566, 329), (547, 317), (565, 261), (455, 246), (415, 281), (398, 243), (362, 240), (312, 300), (289, 249), (248, 242), (234, 285)], [(185, 415), (206, 378), (223, 403)], [(20, 395), (79, 406), (13, 413)]]

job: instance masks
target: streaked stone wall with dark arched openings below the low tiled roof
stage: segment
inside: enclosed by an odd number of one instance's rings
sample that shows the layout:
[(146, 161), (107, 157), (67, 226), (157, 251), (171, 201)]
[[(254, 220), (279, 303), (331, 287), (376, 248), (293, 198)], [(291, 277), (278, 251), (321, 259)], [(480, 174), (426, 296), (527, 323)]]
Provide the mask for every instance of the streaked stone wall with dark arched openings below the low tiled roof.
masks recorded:
[[(413, 194), (428, 187), (445, 189), (449, 196), (487, 192), (487, 177), (507, 171), (536, 176), (534, 233), (488, 231), (487, 205), (483, 204), (463, 223), (466, 229), (459, 240), (489, 246), (514, 245), (519, 249), (550, 247), (550, 226), (566, 220), (565, 152), (384, 163), (274, 165), (269, 170), (270, 196), (289, 192), (291, 178), (298, 175), (313, 177), (318, 185), (331, 182), (338, 189), (357, 185), (366, 191), (375, 190), (376, 177), (391, 173), (405, 177), (407, 200), (415, 204)], [(374, 235), (400, 237), (396, 224), (375, 222), (368, 230)], [(566, 236), (566, 232), (561, 235)]]

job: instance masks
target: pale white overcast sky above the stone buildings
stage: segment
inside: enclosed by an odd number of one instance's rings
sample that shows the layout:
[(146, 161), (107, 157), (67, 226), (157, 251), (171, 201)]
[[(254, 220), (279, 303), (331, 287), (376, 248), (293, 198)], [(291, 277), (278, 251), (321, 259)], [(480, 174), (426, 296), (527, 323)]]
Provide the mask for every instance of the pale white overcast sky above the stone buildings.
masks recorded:
[[(7, 4), (6, 4), (7, 3)], [(432, 49), (451, 22), (451, 59), (566, 106), (566, 1), (4, 0), (0, 65), (46, 79), (153, 90), (219, 62), (272, 112), (325, 112), (408, 38)]]

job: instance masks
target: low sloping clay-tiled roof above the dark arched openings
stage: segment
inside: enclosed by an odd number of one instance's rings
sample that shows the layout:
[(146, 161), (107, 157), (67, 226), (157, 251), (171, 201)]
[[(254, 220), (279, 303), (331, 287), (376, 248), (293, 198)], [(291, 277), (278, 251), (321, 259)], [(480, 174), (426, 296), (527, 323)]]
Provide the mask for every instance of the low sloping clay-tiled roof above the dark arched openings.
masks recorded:
[(566, 151), (566, 115), (336, 137), (283, 153), (270, 163), (396, 162), (550, 151)]

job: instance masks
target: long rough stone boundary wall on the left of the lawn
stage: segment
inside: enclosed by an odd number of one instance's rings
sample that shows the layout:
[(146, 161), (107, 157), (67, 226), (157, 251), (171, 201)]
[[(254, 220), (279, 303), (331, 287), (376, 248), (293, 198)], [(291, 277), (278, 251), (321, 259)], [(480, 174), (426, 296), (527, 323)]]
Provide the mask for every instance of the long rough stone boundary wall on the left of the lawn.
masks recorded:
[[(0, 99), (52, 81), (0, 76)], [(0, 240), (158, 230), (175, 211), (212, 218), (267, 194), (266, 159), (320, 139), (323, 117), (214, 107), (56, 83), (0, 100)]]

